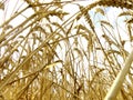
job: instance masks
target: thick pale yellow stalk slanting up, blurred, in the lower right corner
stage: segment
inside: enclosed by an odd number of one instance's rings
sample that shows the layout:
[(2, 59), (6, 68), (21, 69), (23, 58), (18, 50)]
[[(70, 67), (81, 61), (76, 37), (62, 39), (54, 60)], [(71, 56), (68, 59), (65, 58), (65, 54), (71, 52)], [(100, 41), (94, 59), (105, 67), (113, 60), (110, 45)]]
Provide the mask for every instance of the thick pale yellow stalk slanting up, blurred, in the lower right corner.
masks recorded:
[(113, 82), (111, 89), (109, 90), (106, 97), (104, 98), (104, 100), (115, 100), (116, 94), (120, 91), (122, 83), (124, 81), (124, 78), (125, 78), (126, 73), (130, 71), (132, 61), (133, 61), (133, 50), (130, 53), (130, 56), (127, 57), (124, 68), (117, 74), (116, 79), (114, 80), (114, 82)]

